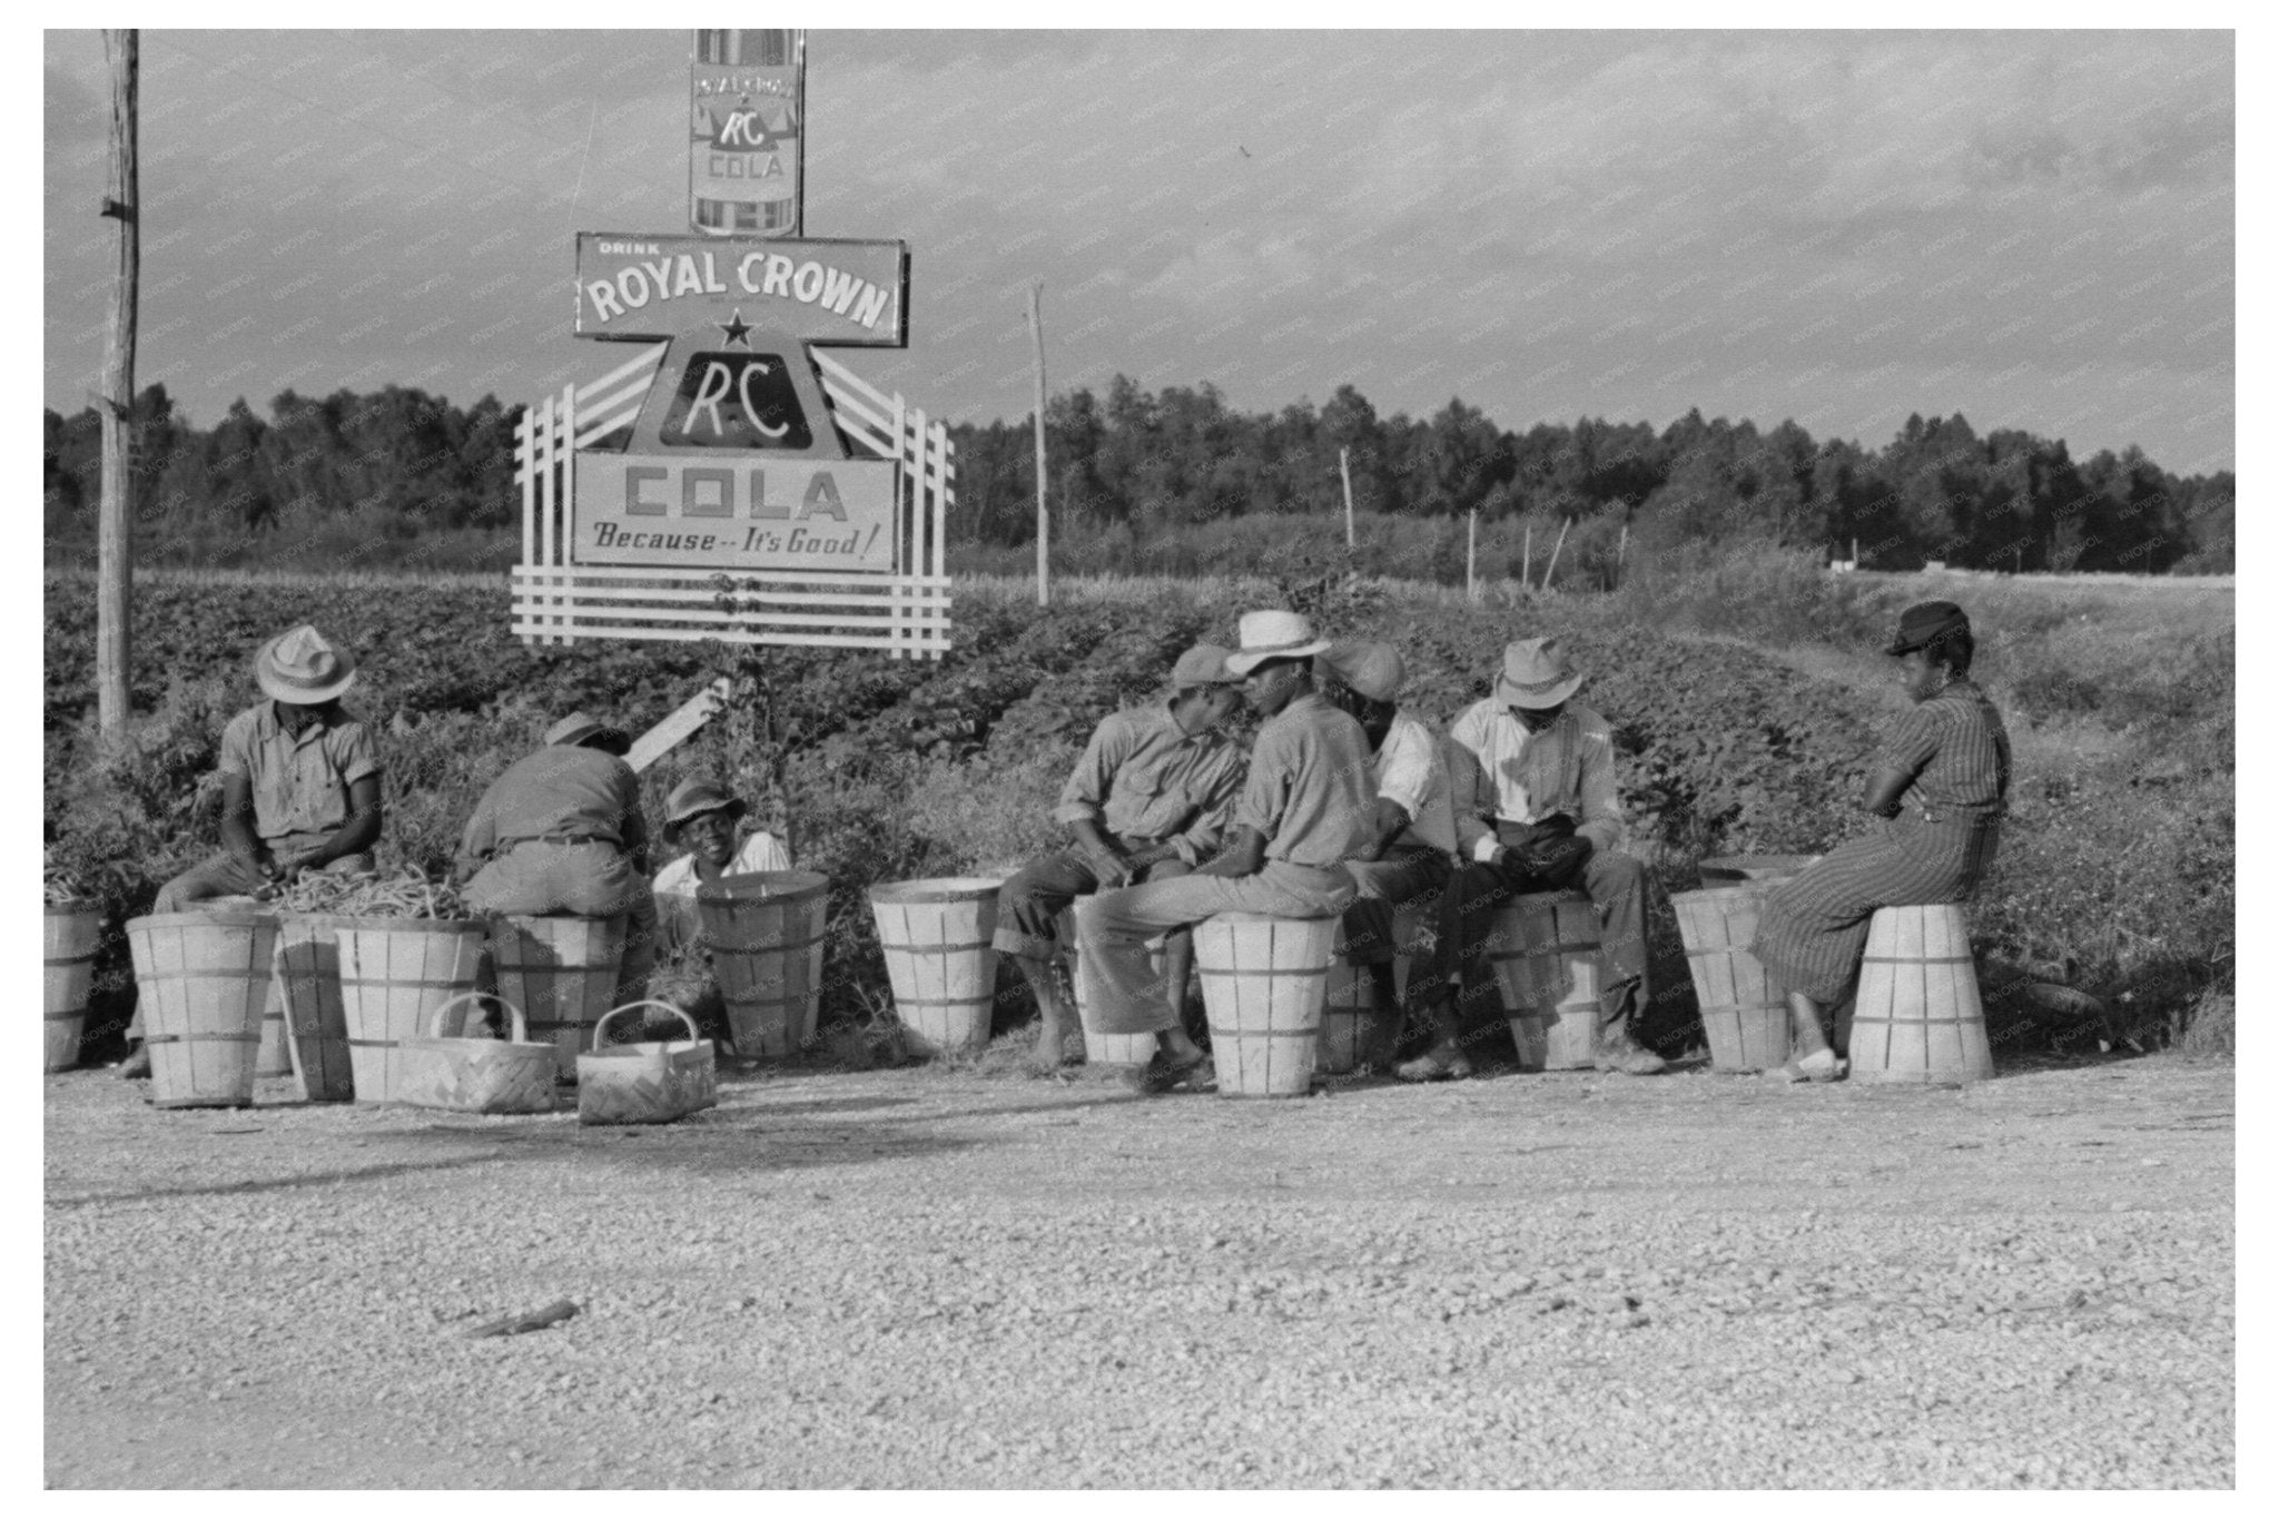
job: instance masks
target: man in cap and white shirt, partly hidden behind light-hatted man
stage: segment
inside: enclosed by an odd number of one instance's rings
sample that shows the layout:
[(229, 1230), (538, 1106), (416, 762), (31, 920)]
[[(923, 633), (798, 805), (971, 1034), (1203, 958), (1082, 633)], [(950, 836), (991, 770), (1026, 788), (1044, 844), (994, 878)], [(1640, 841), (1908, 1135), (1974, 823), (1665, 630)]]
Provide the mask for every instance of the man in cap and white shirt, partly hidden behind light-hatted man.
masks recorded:
[[(1456, 808), (1449, 802), (1447, 758), (1440, 736), (1395, 706), (1406, 679), (1392, 644), (1340, 642), (1313, 660), (1322, 697), (1361, 724), (1370, 740), (1370, 779), (1377, 783), (1372, 840), (1361, 859), (1345, 863), (1361, 895), (1345, 909), (1345, 956), (1367, 966), (1374, 1029), (1365, 1066), (1383, 1068), (1402, 1034), (1402, 1007), (1392, 986), (1392, 913), (1436, 897), (1452, 875), (1456, 854)], [(1411, 1007), (1424, 1009), (1445, 982), (1415, 977)]]

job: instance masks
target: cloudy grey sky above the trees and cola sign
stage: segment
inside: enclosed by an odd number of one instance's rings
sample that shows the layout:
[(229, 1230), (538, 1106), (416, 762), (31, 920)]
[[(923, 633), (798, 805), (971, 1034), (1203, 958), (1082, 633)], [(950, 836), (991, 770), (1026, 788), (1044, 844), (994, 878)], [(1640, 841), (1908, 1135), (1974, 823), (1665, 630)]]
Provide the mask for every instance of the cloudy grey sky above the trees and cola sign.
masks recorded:
[[(608, 373), (574, 232), (688, 228), (691, 34), (144, 32), (137, 385)], [(809, 34), (809, 237), (909, 244), (953, 421), (1051, 389), (1354, 385), (1495, 424), (1910, 412), (2233, 467), (2229, 32)], [(98, 32), (46, 32), (46, 403), (100, 387)]]

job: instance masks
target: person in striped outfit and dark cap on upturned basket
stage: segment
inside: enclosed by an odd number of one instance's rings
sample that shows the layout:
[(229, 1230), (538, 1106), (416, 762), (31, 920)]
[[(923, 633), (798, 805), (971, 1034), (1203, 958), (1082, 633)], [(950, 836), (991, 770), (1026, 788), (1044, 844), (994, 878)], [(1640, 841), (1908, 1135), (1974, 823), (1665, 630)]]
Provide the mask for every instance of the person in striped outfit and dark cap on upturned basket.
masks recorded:
[(1971, 681), (1971, 619), (1953, 601), (1923, 601), (1901, 615), (1885, 654), (1898, 656), (1898, 683), (1914, 711), (1876, 754), (1860, 797), (1887, 822), (1837, 845), (1764, 902), (1750, 952), (1789, 993), (1794, 1050), (1778, 1077), (1844, 1075), (1821, 1011), (1857, 979), (1878, 906), (1962, 902), (1994, 863), (2010, 793), (2010, 736)]

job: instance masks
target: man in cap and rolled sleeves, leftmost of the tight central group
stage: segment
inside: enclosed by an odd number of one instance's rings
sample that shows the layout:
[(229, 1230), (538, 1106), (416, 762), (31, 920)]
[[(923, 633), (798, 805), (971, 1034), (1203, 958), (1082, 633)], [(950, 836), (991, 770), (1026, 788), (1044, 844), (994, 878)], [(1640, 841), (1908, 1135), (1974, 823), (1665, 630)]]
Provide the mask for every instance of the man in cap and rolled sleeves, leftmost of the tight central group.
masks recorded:
[[(1053, 818), (1069, 827), (1071, 847), (1030, 861), (998, 890), (994, 943), (1037, 993), (1032, 1059), (1046, 1070), (1064, 1059), (1071, 1020), (1053, 975), (1060, 954), (1055, 920), (1080, 895), (1187, 875), (1219, 847), (1242, 783), (1242, 752), (1224, 733), (1240, 708), (1242, 692), (1226, 672), (1226, 649), (1196, 644), (1181, 654), (1171, 667), (1171, 695), (1103, 717), (1060, 788)], [(1192, 956), (1185, 934), (1165, 945), (1165, 995), (1174, 1023)]]

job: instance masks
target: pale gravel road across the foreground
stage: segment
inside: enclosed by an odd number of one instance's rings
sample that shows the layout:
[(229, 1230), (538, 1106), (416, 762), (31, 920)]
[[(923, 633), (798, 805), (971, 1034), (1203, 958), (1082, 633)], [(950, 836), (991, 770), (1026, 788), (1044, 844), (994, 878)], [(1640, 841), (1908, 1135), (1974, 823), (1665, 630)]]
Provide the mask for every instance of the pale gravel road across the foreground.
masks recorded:
[(292, 1095), (48, 1077), (50, 1487), (2236, 1480), (2229, 1061)]

